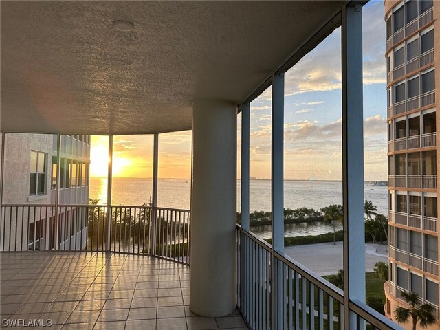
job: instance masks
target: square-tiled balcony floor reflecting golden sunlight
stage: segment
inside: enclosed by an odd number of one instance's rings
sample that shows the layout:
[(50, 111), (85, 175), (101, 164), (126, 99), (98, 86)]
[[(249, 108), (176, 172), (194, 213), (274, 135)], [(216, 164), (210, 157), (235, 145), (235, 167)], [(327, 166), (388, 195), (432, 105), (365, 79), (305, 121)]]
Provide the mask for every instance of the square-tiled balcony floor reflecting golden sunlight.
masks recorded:
[[(189, 267), (150, 256), (101, 252), (2, 252), (4, 319), (52, 320), (50, 329), (248, 329), (235, 311), (189, 310)], [(14, 327), (14, 329), (47, 327)]]

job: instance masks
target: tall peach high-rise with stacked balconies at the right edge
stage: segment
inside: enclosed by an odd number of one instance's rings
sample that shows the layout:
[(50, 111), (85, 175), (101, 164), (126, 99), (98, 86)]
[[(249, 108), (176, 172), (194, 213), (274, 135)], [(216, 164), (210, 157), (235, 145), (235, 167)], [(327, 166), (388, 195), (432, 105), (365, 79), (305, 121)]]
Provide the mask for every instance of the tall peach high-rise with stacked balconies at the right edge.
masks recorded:
[[(385, 1), (389, 281), (386, 315), (417, 292), (439, 320), (440, 1)], [(407, 325), (409, 326), (409, 325)], [(428, 329), (439, 329), (437, 321)]]

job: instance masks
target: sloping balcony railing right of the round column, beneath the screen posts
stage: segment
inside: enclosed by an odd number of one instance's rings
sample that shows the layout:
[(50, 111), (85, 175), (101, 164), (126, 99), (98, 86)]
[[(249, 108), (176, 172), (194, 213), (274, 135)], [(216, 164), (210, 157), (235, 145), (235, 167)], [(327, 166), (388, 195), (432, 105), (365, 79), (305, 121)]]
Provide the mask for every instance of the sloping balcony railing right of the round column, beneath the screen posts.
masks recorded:
[[(274, 329), (348, 329), (344, 327), (344, 293), (338, 287), (289, 256), (272, 251), (269, 244), (240, 226), (237, 251), (238, 305), (252, 329), (272, 329), (272, 323)], [(395, 329), (390, 320), (364, 303), (349, 301), (349, 309), (358, 322)]]

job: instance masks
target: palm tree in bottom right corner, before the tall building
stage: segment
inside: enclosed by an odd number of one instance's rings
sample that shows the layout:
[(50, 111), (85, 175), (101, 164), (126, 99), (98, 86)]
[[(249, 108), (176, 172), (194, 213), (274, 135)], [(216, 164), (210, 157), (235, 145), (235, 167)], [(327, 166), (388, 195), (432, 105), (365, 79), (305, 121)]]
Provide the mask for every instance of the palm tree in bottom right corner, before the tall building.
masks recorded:
[(394, 309), (397, 322), (406, 323), (411, 316), (412, 330), (416, 330), (417, 322), (419, 322), (422, 328), (426, 328), (435, 322), (434, 307), (429, 304), (421, 305), (421, 298), (417, 292), (402, 292), (401, 297), (404, 298), (410, 308), (396, 307)]

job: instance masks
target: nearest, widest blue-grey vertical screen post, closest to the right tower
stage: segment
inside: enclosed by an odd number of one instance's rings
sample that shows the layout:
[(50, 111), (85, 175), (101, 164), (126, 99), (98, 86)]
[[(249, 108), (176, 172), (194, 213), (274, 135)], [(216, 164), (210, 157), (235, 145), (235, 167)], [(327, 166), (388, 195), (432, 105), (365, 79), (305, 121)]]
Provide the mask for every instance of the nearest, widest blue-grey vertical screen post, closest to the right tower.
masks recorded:
[[(362, 5), (342, 8), (342, 195), (344, 325), (355, 329), (349, 301), (365, 302)], [(360, 329), (363, 329), (361, 325)]]

